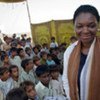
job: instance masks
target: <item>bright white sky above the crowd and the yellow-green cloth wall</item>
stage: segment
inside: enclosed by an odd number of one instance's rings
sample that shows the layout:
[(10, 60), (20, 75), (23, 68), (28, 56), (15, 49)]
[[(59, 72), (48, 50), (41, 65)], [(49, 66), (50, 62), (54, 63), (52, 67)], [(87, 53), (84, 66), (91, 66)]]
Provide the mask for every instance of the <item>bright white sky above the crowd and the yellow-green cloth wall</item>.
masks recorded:
[(29, 9), (26, 2), (0, 3), (1, 33), (29, 33), (30, 22), (72, 19), (74, 11), (82, 4), (91, 4), (100, 11), (100, 0), (28, 0)]

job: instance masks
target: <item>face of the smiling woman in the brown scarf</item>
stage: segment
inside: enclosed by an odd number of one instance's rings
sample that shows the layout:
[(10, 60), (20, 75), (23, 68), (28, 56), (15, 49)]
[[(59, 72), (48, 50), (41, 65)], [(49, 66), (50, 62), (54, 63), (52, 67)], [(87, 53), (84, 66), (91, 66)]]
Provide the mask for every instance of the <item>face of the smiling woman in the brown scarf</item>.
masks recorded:
[(96, 36), (98, 22), (91, 13), (80, 13), (75, 19), (75, 32), (83, 44), (91, 44)]

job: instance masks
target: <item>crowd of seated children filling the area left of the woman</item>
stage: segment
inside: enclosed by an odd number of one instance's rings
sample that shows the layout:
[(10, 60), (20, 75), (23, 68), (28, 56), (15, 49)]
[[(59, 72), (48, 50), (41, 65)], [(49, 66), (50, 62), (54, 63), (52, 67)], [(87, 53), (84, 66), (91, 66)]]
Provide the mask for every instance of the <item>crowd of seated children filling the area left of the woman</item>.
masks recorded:
[(66, 100), (61, 76), (64, 51), (47, 44), (32, 48), (25, 39), (18, 46), (12, 40), (6, 37), (7, 48), (0, 51), (0, 100)]

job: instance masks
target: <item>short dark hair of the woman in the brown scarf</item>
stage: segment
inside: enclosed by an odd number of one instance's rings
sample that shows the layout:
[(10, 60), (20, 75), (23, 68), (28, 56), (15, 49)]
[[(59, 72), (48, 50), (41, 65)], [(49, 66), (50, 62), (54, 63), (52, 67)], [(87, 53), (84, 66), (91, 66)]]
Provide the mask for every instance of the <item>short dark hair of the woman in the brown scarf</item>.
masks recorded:
[(97, 22), (99, 22), (99, 13), (98, 10), (92, 5), (81, 5), (79, 8), (76, 9), (73, 17), (73, 23), (75, 22), (76, 17), (80, 13), (91, 13), (96, 17)]

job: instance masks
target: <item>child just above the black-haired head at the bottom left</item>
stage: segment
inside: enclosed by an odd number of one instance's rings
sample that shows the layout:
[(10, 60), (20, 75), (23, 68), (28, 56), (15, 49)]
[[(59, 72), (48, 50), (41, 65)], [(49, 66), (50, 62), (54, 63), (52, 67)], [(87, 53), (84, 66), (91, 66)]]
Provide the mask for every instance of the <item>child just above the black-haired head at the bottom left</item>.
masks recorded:
[(18, 69), (18, 67), (16, 65), (11, 65), (9, 67), (9, 72), (10, 72), (11, 79), (13, 81), (13, 86), (14, 87), (19, 87), (21, 79), (19, 77), (19, 69)]

